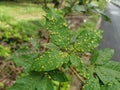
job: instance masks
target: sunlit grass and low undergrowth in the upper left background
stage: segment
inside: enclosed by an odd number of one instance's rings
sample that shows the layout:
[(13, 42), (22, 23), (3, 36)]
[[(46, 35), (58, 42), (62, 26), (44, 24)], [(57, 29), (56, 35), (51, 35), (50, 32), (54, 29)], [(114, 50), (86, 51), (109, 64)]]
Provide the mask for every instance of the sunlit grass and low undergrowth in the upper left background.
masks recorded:
[[(1, 46), (9, 55), (9, 50), (27, 42), (40, 30), (45, 12), (34, 4), (0, 2), (0, 40)], [(6, 56), (6, 54), (0, 54)]]

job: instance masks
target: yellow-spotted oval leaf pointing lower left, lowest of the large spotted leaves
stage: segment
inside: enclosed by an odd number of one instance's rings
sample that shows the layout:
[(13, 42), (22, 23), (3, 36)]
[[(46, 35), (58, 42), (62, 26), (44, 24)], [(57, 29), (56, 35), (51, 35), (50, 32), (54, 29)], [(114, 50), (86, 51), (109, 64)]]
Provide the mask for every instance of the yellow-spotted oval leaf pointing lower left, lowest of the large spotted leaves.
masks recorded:
[(35, 59), (31, 69), (38, 72), (51, 71), (61, 67), (68, 61), (68, 53), (57, 50), (49, 50)]

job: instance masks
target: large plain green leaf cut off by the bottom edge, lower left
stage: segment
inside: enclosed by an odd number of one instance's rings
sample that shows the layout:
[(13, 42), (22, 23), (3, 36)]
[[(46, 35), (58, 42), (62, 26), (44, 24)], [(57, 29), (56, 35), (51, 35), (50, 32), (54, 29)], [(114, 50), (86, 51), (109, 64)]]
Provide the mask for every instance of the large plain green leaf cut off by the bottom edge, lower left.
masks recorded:
[(19, 78), (7, 90), (54, 90), (50, 79), (38, 73)]

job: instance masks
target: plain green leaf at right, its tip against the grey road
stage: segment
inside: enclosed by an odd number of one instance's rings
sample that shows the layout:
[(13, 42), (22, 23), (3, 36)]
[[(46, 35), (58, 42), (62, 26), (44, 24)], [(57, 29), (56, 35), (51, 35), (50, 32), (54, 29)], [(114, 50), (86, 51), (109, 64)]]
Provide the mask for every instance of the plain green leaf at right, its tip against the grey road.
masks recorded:
[(95, 64), (103, 65), (103, 64), (107, 63), (112, 58), (113, 54), (114, 54), (114, 50), (112, 50), (112, 49), (100, 50), (99, 56), (97, 57)]

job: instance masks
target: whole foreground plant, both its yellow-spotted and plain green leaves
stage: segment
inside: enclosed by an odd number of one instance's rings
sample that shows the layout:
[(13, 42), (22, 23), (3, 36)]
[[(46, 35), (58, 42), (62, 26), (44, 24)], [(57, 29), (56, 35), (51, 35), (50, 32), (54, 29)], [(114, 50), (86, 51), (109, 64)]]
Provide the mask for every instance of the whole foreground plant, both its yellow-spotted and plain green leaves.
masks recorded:
[[(8, 59), (23, 71), (7, 90), (69, 90), (69, 71), (81, 82), (82, 90), (119, 90), (120, 63), (110, 61), (114, 51), (96, 50), (102, 31), (96, 30), (93, 22), (85, 22), (71, 31), (63, 11), (46, 8), (45, 12), (45, 23), (37, 28), (40, 30), (36, 30), (35, 25), (40, 23), (35, 21), (10, 24), (25, 33), (29, 42)], [(0, 48), (9, 53), (3, 46)]]

